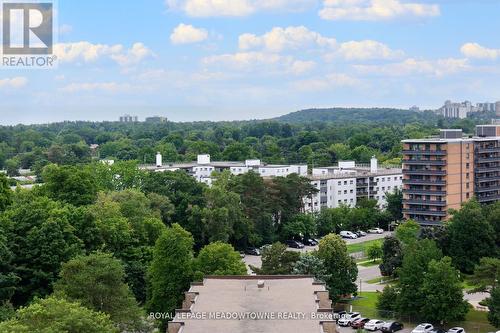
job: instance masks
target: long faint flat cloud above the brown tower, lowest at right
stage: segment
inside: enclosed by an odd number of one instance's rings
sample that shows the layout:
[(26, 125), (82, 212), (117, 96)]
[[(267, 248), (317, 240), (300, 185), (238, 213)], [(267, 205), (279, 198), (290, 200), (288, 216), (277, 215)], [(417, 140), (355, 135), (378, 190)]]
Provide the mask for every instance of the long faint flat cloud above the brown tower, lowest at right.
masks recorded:
[(430, 75), (441, 77), (470, 69), (467, 59), (437, 59), (418, 60), (406, 59), (402, 62), (385, 65), (355, 65), (354, 68), (362, 74), (383, 76)]

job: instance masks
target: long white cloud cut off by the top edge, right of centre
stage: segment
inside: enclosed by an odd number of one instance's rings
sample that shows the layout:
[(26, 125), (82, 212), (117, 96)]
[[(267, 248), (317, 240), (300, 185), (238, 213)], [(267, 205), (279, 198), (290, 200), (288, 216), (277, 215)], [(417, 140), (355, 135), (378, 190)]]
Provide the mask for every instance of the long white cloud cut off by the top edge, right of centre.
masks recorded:
[(440, 15), (437, 4), (402, 0), (324, 0), (323, 6), (319, 16), (325, 20), (380, 21)]

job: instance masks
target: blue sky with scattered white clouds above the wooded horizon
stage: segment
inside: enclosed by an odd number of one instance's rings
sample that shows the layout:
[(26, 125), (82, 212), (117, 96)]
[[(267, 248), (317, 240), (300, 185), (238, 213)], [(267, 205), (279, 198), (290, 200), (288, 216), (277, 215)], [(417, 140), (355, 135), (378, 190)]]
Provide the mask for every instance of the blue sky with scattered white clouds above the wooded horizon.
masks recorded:
[(59, 0), (59, 65), (0, 69), (0, 124), (494, 102), (499, 12), (497, 0)]

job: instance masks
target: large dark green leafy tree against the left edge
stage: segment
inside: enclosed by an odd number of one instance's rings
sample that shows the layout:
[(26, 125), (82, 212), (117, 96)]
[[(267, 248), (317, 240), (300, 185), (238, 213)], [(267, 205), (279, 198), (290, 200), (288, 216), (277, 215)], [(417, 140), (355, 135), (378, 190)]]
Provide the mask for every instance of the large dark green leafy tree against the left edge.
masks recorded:
[(12, 254), (13, 273), (20, 278), (12, 302), (24, 305), (52, 292), (61, 263), (82, 251), (70, 224), (70, 208), (36, 191), (20, 191), (0, 217), (0, 229)]

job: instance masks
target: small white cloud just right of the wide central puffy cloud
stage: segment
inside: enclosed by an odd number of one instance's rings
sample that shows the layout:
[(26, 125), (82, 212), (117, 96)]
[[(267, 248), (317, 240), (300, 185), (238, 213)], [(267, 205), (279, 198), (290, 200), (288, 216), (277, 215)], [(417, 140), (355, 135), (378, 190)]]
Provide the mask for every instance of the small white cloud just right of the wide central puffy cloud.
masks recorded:
[(401, 50), (392, 50), (387, 45), (374, 41), (350, 41), (340, 44), (336, 55), (346, 60), (396, 59), (404, 56)]

